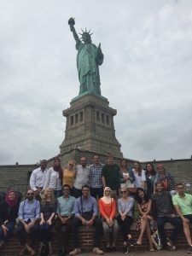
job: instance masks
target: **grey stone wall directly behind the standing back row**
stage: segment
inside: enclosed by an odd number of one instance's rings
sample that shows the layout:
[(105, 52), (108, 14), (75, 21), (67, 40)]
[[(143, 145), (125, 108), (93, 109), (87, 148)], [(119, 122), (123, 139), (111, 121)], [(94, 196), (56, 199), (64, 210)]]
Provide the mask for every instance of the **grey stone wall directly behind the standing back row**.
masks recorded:
[[(61, 154), (61, 166), (67, 166), (67, 161), (73, 159), (77, 164), (80, 163), (80, 158), (85, 156), (88, 164), (92, 163), (92, 157), (95, 152), (81, 149), (73, 149), (65, 154)], [(108, 154), (100, 154), (101, 162), (106, 163)], [(115, 163), (119, 165), (119, 158), (114, 158)], [(129, 160), (129, 166), (132, 167), (135, 160)], [(48, 160), (48, 167), (53, 166), (54, 158)], [(177, 183), (189, 183), (189, 190), (192, 190), (192, 159), (183, 160), (158, 160), (154, 161), (154, 168), (157, 164), (163, 163), (166, 170), (171, 172), (175, 177)], [(142, 163), (144, 167), (146, 162)], [(14, 166), (0, 166), (0, 191), (7, 191), (10, 187), (15, 190), (20, 190), (21, 186), (14, 187), (16, 184), (26, 185), (29, 182), (30, 174), (38, 165), (14, 165)]]

